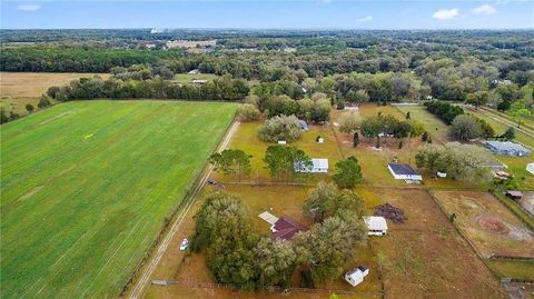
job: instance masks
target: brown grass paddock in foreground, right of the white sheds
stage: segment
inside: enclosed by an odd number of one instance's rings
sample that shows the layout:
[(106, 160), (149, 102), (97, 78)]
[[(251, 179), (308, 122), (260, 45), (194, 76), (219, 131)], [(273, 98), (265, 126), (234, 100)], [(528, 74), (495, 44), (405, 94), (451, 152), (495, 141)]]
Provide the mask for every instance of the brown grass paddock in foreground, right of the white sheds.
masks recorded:
[(425, 190), (373, 189), (407, 220), (372, 238), (386, 298), (504, 298), (496, 279)]

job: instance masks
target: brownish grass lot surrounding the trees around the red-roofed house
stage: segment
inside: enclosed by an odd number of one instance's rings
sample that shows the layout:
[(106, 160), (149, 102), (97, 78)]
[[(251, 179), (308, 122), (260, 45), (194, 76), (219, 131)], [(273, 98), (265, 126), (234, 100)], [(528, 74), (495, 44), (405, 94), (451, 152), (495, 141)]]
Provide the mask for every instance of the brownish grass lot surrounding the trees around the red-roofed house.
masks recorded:
[[(259, 231), (269, 235), (269, 223), (258, 217), (258, 215), (264, 211), (269, 211), (277, 217), (288, 216), (306, 227), (312, 226), (312, 222), (301, 211), (301, 206), (309, 189), (309, 187), (289, 186), (253, 187), (226, 185), (224, 191), (239, 197), (250, 212), (251, 223), (256, 226)], [(206, 187), (204, 193), (207, 195), (215, 190), (218, 189)], [(201, 200), (199, 199), (189, 211), (184, 222), (184, 229), (179, 233), (180, 236), (176, 238), (170, 247), (171, 249), (166, 253), (154, 276), (154, 279), (174, 280), (177, 281), (178, 285), (166, 287), (150, 286), (147, 298), (202, 298), (208, 295), (216, 296), (217, 298), (233, 298), (235, 296), (239, 298), (257, 298), (258, 293), (236, 292), (215, 286), (209, 276), (209, 270), (206, 267), (204, 255), (192, 253), (185, 256), (182, 251), (178, 251), (179, 241), (181, 241), (182, 238), (187, 238), (194, 231), (195, 222), (192, 216), (200, 206)], [(358, 298), (360, 296), (378, 298), (380, 295), (380, 280), (378, 277), (378, 267), (370, 249), (366, 245), (363, 245), (360, 248), (356, 248), (355, 252), (355, 259), (346, 266), (345, 270), (359, 265), (365, 265), (370, 268), (369, 276), (357, 288), (353, 288), (343, 278), (339, 278), (317, 290), (298, 290), (300, 281), (296, 272), (291, 287), (297, 289), (290, 290), (288, 295), (281, 295), (279, 292), (266, 293), (265, 298), (277, 298), (279, 296), (289, 296), (290, 298), (325, 298), (325, 296), (328, 295), (328, 290), (337, 290), (340, 293), (348, 295), (350, 298)], [(263, 296), (260, 297), (263, 298)]]

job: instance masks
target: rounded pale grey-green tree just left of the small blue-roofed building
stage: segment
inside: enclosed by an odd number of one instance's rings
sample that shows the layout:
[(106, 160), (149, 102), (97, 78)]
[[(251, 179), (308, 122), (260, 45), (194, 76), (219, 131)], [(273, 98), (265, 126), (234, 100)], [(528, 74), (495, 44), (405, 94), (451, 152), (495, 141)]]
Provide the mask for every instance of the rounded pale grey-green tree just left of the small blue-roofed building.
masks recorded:
[(265, 124), (258, 130), (258, 137), (264, 141), (278, 142), (286, 140), (288, 142), (298, 140), (303, 136), (300, 123), (295, 116), (279, 116), (265, 121)]

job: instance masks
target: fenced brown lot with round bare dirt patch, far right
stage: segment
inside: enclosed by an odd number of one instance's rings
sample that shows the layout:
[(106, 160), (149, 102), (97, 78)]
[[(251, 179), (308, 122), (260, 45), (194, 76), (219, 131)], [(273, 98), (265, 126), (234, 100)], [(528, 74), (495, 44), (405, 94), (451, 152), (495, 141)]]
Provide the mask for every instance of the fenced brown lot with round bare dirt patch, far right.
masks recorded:
[(497, 199), (487, 192), (435, 191), (447, 213), (482, 257), (534, 258), (534, 237)]

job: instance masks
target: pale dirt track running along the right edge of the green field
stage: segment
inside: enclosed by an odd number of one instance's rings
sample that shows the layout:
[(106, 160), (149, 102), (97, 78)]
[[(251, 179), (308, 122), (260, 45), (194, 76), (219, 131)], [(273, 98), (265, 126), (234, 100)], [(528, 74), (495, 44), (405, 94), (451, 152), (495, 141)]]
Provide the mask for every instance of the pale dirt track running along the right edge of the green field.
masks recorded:
[[(228, 143), (230, 142), (230, 139), (234, 136), (234, 133), (236, 132), (238, 126), (239, 126), (239, 122), (234, 121), (234, 123), (231, 124), (230, 129), (228, 130), (225, 139), (220, 143), (220, 147), (218, 149), (219, 151), (221, 151), (221, 150), (226, 149), (226, 147), (228, 147)], [(189, 197), (189, 200), (187, 201), (186, 207), (184, 208), (184, 210), (180, 211), (180, 213), (176, 218), (175, 222), (172, 223), (169, 232), (165, 236), (164, 240), (159, 245), (158, 250), (156, 251), (156, 255), (150, 260), (150, 262), (144, 269), (141, 269), (141, 276), (137, 280), (137, 283), (134, 286), (134, 289), (132, 289), (130, 296), (128, 297), (129, 299), (141, 298), (145, 289), (147, 288), (147, 286), (150, 282), (150, 278), (152, 277), (154, 271), (156, 270), (156, 268), (159, 265), (159, 261), (161, 260), (165, 252), (167, 251), (167, 248), (169, 247), (170, 242), (172, 241), (174, 237), (176, 236), (176, 232), (178, 232), (178, 230), (180, 229), (181, 223), (184, 222), (184, 219), (186, 218), (187, 212), (189, 211), (192, 203), (197, 199), (197, 196), (200, 192), (200, 190), (202, 189), (202, 187), (206, 185), (206, 181), (208, 180), (212, 170), (214, 170), (214, 167), (210, 166), (208, 171), (206, 172), (206, 175), (202, 177), (202, 179), (200, 180), (200, 182), (197, 185), (197, 187), (192, 191), (191, 196)]]

